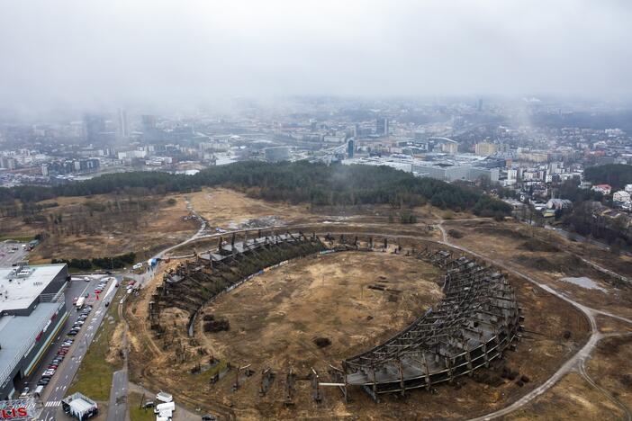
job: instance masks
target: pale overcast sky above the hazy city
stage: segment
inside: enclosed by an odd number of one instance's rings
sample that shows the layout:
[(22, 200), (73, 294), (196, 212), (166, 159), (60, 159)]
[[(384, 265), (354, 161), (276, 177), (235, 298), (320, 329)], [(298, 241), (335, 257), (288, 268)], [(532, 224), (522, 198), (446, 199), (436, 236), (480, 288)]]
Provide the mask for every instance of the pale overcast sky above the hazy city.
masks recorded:
[(632, 94), (628, 0), (4, 0), (0, 104)]

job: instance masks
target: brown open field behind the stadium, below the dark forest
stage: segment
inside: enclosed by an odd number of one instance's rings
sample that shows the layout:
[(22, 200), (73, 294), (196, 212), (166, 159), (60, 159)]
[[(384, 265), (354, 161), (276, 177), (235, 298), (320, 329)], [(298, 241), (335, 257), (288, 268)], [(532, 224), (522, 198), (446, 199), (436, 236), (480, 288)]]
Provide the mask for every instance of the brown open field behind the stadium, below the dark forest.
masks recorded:
[[(141, 260), (194, 234), (198, 223), (182, 219), (189, 215), (187, 198), (193, 209), (209, 221), (211, 230), (322, 221), (384, 225), (388, 215), (394, 215), (390, 224), (393, 228), (402, 227), (397, 210), (387, 206), (311, 209), (307, 204), (266, 202), (218, 188), (141, 198), (116, 194), (59, 197), (37, 203), (41, 209), (28, 215), (0, 218), (0, 232), (2, 237), (43, 233), (46, 239), (30, 254), (33, 264), (50, 263), (51, 258), (90, 258), (132, 251)], [(419, 218), (429, 219), (466, 216), (430, 206), (414, 212)]]

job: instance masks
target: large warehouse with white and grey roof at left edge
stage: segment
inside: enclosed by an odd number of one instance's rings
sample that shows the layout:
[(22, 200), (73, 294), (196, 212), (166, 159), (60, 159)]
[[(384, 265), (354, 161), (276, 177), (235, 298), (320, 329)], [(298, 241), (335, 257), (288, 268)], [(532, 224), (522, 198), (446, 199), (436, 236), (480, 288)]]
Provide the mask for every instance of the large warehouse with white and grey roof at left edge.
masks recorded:
[(0, 268), (0, 399), (12, 399), (68, 318), (66, 264)]

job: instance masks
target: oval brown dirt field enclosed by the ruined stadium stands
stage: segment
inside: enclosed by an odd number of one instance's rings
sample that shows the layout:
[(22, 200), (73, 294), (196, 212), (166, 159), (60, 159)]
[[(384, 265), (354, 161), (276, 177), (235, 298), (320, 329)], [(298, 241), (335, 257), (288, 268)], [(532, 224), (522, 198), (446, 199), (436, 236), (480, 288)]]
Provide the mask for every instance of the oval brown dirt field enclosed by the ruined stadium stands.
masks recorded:
[[(203, 343), (241, 365), (324, 368), (409, 324), (440, 299), (439, 279), (434, 267), (399, 255), (314, 255), (257, 276), (205, 309), (228, 318), (230, 331), (205, 334)], [(392, 291), (369, 288), (377, 283)], [(331, 345), (320, 349), (315, 337)]]

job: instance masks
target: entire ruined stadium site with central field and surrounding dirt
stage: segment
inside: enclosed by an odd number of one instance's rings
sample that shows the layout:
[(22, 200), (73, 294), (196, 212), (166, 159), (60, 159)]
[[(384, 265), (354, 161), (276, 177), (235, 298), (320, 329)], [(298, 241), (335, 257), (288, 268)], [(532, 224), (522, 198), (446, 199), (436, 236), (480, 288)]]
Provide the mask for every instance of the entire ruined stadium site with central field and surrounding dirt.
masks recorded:
[(218, 237), (127, 310), (132, 381), (239, 419), (483, 414), (588, 334), (564, 301), (472, 255), (349, 232)]

